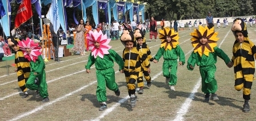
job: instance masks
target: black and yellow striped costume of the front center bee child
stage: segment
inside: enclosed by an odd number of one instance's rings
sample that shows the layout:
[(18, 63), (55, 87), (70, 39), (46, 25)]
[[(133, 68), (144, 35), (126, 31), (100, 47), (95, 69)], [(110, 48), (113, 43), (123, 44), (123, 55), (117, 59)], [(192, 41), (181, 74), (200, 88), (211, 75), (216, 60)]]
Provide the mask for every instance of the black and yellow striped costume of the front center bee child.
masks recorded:
[(141, 66), (149, 68), (149, 60), (147, 60), (147, 56), (140, 54), (136, 47), (133, 47), (131, 50), (128, 48), (123, 50), (123, 61), (125, 62), (125, 68), (123, 70), (125, 72), (129, 95), (135, 94), (135, 82), (139, 76), (139, 72), (141, 72)]

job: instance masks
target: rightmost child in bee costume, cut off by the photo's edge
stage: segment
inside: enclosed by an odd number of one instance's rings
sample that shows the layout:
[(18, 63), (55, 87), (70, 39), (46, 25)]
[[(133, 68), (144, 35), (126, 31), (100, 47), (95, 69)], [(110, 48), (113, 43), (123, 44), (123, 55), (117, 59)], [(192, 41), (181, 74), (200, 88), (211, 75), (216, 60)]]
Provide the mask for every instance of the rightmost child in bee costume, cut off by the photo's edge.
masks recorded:
[[(250, 111), (249, 100), (255, 72), (256, 47), (248, 37), (246, 23), (241, 18), (234, 20), (231, 31), (235, 35), (232, 62), (235, 73), (235, 90), (243, 89), (243, 112)], [(232, 65), (233, 65), (232, 64)]]

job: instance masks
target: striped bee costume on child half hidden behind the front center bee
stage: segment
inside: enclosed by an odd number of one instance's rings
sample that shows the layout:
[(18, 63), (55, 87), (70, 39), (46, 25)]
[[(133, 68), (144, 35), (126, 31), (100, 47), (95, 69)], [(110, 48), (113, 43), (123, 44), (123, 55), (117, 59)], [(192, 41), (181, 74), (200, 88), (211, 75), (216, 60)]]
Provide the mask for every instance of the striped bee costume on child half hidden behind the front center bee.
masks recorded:
[[(145, 38), (143, 39), (145, 40)], [(151, 56), (151, 52), (149, 47), (146, 43), (143, 43), (142, 45), (137, 44), (137, 50), (139, 53), (141, 53), (143, 56), (147, 57), (147, 60), (153, 61), (153, 57)], [(139, 73), (139, 78), (137, 80), (138, 87), (143, 87), (143, 74), (147, 82), (151, 82), (151, 77), (149, 76), (149, 72), (147, 72), (147, 68), (143, 65), (141, 65), (141, 72)]]

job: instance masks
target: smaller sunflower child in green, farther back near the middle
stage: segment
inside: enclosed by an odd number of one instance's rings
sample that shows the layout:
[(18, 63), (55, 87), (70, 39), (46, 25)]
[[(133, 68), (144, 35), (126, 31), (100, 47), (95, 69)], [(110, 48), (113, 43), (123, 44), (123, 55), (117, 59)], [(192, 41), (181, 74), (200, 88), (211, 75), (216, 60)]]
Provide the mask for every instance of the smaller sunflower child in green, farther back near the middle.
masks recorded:
[[(157, 63), (163, 56), (163, 76), (166, 77), (166, 83), (169, 84), (170, 90), (175, 91), (174, 86), (177, 84), (177, 67), (185, 64), (185, 55), (181, 47), (178, 45), (178, 32), (168, 27), (159, 30), (159, 39), (161, 39), (161, 47), (158, 49), (154, 62)], [(170, 70), (170, 71), (169, 71)]]

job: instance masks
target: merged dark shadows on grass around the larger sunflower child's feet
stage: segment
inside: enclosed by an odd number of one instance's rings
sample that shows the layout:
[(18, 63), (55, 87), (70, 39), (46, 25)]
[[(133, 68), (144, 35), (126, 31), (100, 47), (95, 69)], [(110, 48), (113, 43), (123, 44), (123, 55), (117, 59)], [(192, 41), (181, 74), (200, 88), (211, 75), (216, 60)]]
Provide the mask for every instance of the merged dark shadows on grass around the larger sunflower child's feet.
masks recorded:
[[(177, 89), (175, 91), (170, 91), (169, 85), (167, 85), (165, 82), (153, 82), (152, 84), (157, 87), (163, 87), (163, 88), (167, 89), (168, 91), (164, 91), (164, 92), (169, 94), (169, 98), (171, 98), (171, 99), (176, 99), (177, 97), (185, 97), (185, 98), (193, 99), (193, 101), (199, 101), (202, 103), (206, 103), (206, 102), (203, 102), (204, 98), (205, 98), (205, 94), (203, 94), (203, 93), (198, 93), (198, 92), (194, 93), (194, 97), (193, 97), (193, 94), (189, 93), (189, 92), (178, 91)], [(201, 88), (199, 88), (198, 91), (201, 91)], [(199, 97), (201, 97), (201, 98), (199, 98)], [(215, 105), (215, 103), (213, 103), (213, 102), (216, 102), (216, 103), (218, 103), (218, 105), (221, 105), (221, 106), (230, 106), (230, 107), (234, 107), (234, 108), (242, 110), (242, 105), (237, 106), (233, 102), (243, 102), (243, 101), (238, 101), (237, 99), (233, 99), (233, 98), (229, 98), (229, 97), (222, 97), (220, 95), (218, 95), (218, 98), (219, 98), (219, 100), (217, 100), (217, 101), (213, 101), (210, 99), (210, 101), (208, 102), (209, 105)]]

